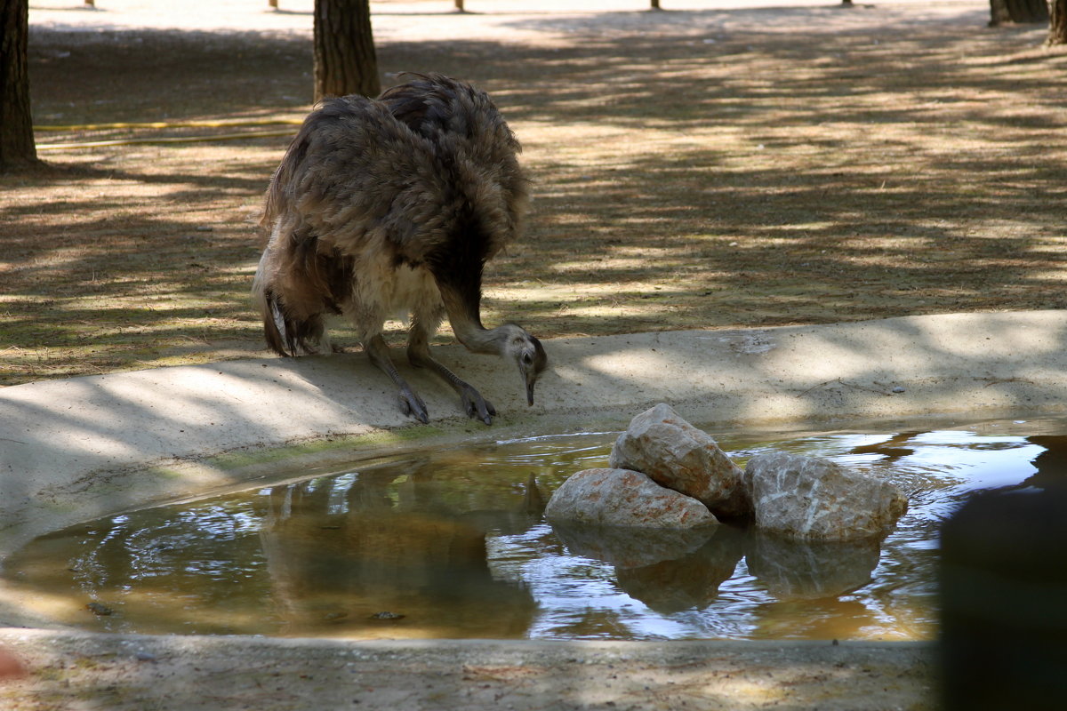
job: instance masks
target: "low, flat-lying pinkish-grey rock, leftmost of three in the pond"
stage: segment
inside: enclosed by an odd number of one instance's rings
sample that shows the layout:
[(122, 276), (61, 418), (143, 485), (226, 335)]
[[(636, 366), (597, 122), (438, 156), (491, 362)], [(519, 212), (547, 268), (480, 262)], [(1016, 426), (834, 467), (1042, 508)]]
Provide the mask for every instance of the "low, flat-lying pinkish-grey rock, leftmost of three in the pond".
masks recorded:
[(689, 529), (718, 519), (696, 499), (625, 469), (586, 469), (556, 489), (544, 510), (550, 523)]

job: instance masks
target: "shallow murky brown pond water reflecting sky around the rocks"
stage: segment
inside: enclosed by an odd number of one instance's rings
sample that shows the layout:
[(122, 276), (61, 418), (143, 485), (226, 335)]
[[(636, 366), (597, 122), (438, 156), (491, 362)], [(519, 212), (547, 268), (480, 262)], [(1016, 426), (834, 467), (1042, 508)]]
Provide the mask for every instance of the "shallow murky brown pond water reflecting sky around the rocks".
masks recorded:
[(909, 511), (880, 545), (555, 531), (543, 503), (617, 433), (355, 460), (102, 518), (4, 562), (10, 586), (96, 631), (458, 639), (928, 640), (939, 524), (983, 488), (1067, 471), (1067, 421), (713, 436), (886, 478)]

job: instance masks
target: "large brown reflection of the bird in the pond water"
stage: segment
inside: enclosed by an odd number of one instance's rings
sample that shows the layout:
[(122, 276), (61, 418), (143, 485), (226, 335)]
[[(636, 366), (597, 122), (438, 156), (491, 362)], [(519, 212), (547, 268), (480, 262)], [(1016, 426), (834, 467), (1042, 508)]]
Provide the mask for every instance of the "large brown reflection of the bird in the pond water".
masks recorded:
[(493, 578), (484, 527), (526, 514), (464, 520), (442, 513), (433, 487), (423, 486), (432, 479), (417, 478), (397, 505), (393, 479), (357, 475), (344, 503), (315, 481), (271, 489), (260, 539), (282, 633), (522, 636), (537, 605), (521, 585)]

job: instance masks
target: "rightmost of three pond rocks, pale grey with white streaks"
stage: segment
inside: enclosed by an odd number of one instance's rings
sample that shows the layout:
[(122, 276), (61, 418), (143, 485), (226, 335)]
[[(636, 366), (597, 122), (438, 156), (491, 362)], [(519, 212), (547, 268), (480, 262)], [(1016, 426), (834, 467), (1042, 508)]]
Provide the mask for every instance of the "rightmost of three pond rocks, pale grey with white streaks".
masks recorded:
[(745, 469), (764, 532), (803, 540), (883, 536), (908, 508), (898, 488), (819, 457), (759, 454)]

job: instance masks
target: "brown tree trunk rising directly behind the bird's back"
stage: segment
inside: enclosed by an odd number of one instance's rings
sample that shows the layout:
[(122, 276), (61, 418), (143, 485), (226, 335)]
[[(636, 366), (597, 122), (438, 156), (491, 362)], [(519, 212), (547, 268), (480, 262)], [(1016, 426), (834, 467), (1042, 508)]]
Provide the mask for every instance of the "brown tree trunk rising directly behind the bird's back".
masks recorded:
[(369, 0), (315, 0), (315, 100), (381, 88)]

